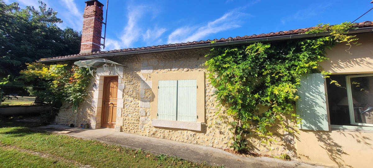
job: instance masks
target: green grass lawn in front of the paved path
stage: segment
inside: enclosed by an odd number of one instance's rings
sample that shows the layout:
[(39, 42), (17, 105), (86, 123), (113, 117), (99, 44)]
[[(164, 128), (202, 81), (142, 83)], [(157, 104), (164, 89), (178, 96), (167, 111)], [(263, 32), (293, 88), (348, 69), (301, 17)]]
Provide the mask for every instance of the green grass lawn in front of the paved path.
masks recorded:
[[(95, 140), (83, 140), (59, 134), (32, 131), (38, 123), (21, 123), (0, 118), (0, 165), (5, 167), (209, 167), (175, 157), (153, 155)], [(16, 149), (9, 149), (15, 147)], [(46, 153), (48, 157), (17, 150)], [(26, 157), (28, 156), (28, 157)], [(55, 156), (55, 157), (53, 157)], [(9, 157), (11, 159), (9, 159)], [(57, 158), (64, 158), (65, 161)], [(66, 162), (69, 161), (69, 162)], [(71, 163), (75, 163), (71, 165)]]

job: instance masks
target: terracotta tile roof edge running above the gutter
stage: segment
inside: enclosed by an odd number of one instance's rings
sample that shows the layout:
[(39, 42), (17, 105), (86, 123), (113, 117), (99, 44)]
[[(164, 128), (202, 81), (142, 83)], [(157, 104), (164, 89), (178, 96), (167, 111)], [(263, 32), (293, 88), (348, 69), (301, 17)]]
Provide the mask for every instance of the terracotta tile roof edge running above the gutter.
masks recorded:
[[(361, 23), (354, 23), (351, 25), (351, 27), (354, 28), (363, 28), (363, 27), (373, 27), (373, 22), (371, 21), (365, 21)], [(288, 31), (278, 31), (278, 32), (270, 32), (270, 33), (262, 33), (259, 35), (253, 34), (253, 35), (245, 35), (243, 37), (237, 36), (237, 37), (228, 37), (228, 38), (220, 38), (214, 39), (215, 42), (224, 42), (224, 41), (234, 41), (234, 40), (247, 40), (247, 39), (253, 39), (253, 38), (261, 38), (261, 37), (273, 37), (273, 36), (280, 36), (280, 35), (290, 35), (290, 34), (300, 34), (304, 33), (306, 31), (309, 31), (315, 27), (309, 27), (309, 28), (301, 28), (301, 29), (294, 29), (294, 30), (288, 30)], [(68, 58), (68, 57), (79, 57), (79, 56), (88, 56), (88, 55), (98, 55), (98, 54), (104, 54), (104, 53), (118, 53), (118, 52), (127, 52), (127, 51), (140, 51), (140, 50), (148, 50), (148, 49), (162, 49), (162, 48), (168, 48), (168, 47), (177, 47), (177, 46), (188, 46), (188, 45), (195, 45), (195, 44), (206, 44), (210, 43), (212, 40), (201, 40), (201, 41), (192, 41), (192, 42), (186, 42), (186, 43), (175, 43), (175, 44), (163, 44), (163, 45), (157, 45), (157, 46), (148, 46), (148, 47), (139, 47), (139, 48), (128, 48), (128, 49), (118, 49), (118, 50), (110, 50), (110, 51), (98, 51), (93, 53), (83, 53), (83, 54), (75, 54), (75, 55), (66, 55), (66, 56), (57, 56), (57, 57), (51, 57), (51, 58), (45, 58), (41, 60), (53, 60), (53, 59), (61, 59), (61, 58)]]

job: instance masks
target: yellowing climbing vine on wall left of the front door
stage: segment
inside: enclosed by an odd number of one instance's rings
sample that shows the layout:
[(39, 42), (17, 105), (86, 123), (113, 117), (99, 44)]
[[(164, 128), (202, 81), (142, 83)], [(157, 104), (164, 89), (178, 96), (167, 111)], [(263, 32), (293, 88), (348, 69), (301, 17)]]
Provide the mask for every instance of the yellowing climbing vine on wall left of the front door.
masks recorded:
[(54, 110), (45, 114), (45, 120), (56, 115), (63, 103), (78, 106), (88, 96), (91, 75), (87, 68), (29, 63), (20, 74), (30, 94), (53, 107)]

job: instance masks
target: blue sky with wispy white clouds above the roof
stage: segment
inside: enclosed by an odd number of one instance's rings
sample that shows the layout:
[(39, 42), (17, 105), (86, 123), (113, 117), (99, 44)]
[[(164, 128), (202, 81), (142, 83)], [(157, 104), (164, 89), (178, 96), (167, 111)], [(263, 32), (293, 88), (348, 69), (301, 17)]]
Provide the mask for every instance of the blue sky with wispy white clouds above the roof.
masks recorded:
[[(17, 1), (21, 7), (38, 0)], [(43, 0), (64, 22), (82, 29), (85, 0)], [(106, 4), (106, 0), (99, 0)], [(373, 7), (371, 0), (110, 0), (106, 48), (228, 38), (353, 21)], [(104, 6), (104, 9), (106, 6)], [(356, 22), (373, 21), (373, 11)]]

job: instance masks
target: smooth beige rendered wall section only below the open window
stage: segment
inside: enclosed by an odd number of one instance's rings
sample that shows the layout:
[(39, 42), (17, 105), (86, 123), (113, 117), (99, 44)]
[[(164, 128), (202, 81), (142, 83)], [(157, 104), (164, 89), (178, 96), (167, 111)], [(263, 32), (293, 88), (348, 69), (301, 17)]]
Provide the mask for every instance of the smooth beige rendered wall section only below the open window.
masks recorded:
[(297, 152), (298, 161), (327, 167), (372, 167), (373, 131), (301, 130)]

